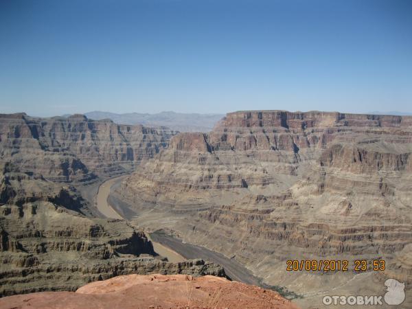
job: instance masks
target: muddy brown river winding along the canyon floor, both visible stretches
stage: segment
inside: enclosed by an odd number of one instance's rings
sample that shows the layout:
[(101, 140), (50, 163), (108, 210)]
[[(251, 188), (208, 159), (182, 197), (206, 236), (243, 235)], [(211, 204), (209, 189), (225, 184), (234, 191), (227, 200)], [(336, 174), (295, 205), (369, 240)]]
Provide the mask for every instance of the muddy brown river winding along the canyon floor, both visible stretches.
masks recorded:
[[(123, 219), (122, 216), (120, 216), (117, 211), (115, 211), (115, 209), (108, 203), (108, 196), (110, 194), (111, 187), (116, 183), (121, 182), (124, 178), (126, 178), (126, 176), (119, 176), (108, 179), (107, 181), (104, 181), (104, 183), (102, 183), (99, 187), (98, 194), (96, 194), (95, 197), (96, 206), (98, 207), (98, 210), (107, 218)], [(151, 240), (148, 233), (146, 233), (146, 236), (149, 240)], [(165, 247), (158, 242), (152, 241), (152, 244), (155, 252), (168, 258), (170, 262), (182, 262), (186, 260), (179, 253), (174, 252), (172, 249), (169, 249), (168, 247)]]

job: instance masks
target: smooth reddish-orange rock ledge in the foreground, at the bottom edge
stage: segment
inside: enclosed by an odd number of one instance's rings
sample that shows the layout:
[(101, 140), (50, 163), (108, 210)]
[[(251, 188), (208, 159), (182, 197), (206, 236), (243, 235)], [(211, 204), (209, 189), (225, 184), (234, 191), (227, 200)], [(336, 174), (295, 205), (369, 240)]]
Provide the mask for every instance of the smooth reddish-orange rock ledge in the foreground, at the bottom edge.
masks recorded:
[(73, 292), (0, 299), (0, 308), (297, 308), (272, 290), (214, 276), (125, 275)]

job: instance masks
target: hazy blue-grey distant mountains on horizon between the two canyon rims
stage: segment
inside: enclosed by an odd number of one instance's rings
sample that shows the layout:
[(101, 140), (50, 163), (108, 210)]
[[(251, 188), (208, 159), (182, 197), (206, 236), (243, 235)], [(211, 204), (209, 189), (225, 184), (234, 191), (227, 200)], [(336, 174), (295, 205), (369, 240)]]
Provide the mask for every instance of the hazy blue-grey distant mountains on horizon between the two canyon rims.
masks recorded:
[(185, 114), (163, 111), (157, 114), (147, 113), (108, 113), (92, 111), (84, 113), (90, 119), (111, 119), (117, 124), (143, 124), (144, 126), (167, 126), (180, 132), (209, 132), (223, 114)]

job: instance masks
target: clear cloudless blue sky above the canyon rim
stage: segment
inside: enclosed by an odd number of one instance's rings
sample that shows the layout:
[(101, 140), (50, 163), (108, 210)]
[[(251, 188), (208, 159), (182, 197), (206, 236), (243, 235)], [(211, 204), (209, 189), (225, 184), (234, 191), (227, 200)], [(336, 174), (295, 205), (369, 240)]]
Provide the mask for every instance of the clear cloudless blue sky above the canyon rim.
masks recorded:
[(0, 0), (0, 113), (412, 112), (409, 0)]

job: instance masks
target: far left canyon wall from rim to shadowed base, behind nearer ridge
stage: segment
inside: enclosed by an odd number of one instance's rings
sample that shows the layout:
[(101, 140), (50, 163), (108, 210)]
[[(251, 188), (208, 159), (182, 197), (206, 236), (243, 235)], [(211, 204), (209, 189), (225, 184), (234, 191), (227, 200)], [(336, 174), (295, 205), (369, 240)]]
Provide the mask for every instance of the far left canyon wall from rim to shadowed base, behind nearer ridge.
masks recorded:
[[(95, 212), (87, 185), (124, 174), (168, 146), (174, 132), (91, 120), (0, 114), (0, 205), (49, 201)], [(91, 194), (93, 195), (93, 194)], [(93, 212), (94, 211), (94, 212)]]

